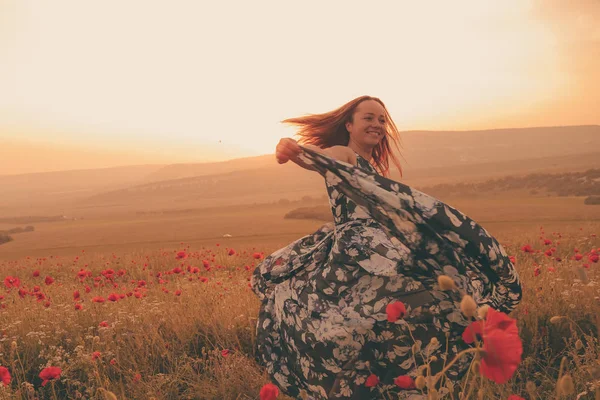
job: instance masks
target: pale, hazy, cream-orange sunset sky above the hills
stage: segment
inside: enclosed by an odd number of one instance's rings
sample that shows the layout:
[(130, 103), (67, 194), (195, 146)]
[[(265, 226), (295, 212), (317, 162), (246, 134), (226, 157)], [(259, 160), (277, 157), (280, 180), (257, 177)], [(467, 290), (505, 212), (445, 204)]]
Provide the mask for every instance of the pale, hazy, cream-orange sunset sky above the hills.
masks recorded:
[(0, 174), (273, 153), (363, 94), (402, 130), (598, 124), (600, 1), (0, 0)]

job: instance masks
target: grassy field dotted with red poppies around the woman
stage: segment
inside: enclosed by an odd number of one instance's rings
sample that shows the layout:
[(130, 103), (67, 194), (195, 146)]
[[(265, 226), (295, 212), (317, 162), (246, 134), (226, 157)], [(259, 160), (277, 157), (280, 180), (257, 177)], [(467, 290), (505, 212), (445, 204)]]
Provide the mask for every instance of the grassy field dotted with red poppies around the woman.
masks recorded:
[[(519, 271), (523, 300), (507, 316), (463, 297), (474, 321), (463, 339), (476, 361), (462, 398), (600, 398), (599, 227), (492, 230)], [(253, 355), (250, 277), (277, 248), (223, 239), (0, 261), (0, 398), (287, 399)], [(439, 285), (457, 290), (444, 277)], [(386, 313), (398, 323), (403, 305)], [(420, 376), (396, 384), (434, 399), (439, 377), (422, 364)], [(378, 377), (365, 385), (377, 391)]]

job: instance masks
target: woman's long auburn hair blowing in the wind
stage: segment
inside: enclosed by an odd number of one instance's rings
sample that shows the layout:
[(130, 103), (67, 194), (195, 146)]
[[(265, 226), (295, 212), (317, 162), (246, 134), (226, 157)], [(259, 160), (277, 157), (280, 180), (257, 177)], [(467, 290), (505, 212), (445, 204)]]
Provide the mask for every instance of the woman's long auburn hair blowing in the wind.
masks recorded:
[(402, 176), (402, 166), (392, 153), (390, 140), (394, 142), (395, 147), (400, 153), (398, 142), (400, 141), (400, 132), (392, 120), (385, 104), (377, 97), (360, 96), (349, 101), (340, 108), (324, 113), (309, 114), (302, 117), (288, 118), (282, 123), (300, 126), (296, 135), (300, 136), (299, 144), (312, 144), (322, 149), (332, 146), (348, 146), (350, 142), (350, 133), (346, 129), (346, 122), (353, 122), (356, 107), (365, 100), (375, 100), (383, 107), (385, 111), (385, 135), (379, 141), (377, 147), (373, 149), (374, 167), (385, 176), (389, 177), (389, 159), (398, 167), (400, 176)]

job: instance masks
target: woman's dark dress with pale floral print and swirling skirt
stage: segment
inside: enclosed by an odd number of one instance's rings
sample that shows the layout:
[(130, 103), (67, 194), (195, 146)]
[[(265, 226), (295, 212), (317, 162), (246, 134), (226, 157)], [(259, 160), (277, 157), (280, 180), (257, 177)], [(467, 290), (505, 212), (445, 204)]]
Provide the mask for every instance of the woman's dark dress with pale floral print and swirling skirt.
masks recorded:
[[(437, 277), (450, 276), (479, 305), (510, 312), (521, 300), (514, 265), (483, 227), (379, 175), (360, 155), (353, 166), (301, 147), (301, 160), (325, 178), (334, 223), (256, 267), (257, 359), (296, 398), (379, 399), (385, 392), (425, 399), (426, 389), (402, 389), (394, 379), (416, 378), (427, 362), (435, 374), (469, 347), (461, 337), (471, 322), (460, 312), (461, 296), (440, 290)], [(395, 301), (406, 314), (388, 322), (386, 306)], [(471, 360), (446, 372), (440, 395)], [(374, 386), (366, 384), (370, 375), (378, 378)]]

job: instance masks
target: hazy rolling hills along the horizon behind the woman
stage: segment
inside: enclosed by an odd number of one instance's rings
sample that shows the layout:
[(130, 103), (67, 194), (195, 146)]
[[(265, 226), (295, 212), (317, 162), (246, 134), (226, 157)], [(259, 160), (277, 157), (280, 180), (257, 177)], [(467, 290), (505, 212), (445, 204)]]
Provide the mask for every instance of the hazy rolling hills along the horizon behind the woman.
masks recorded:
[[(404, 175), (413, 186), (600, 167), (600, 126), (405, 131)], [(273, 154), (222, 162), (143, 165), (0, 176), (0, 215), (84, 213), (118, 204), (138, 210), (203, 207), (322, 194), (323, 179)], [(25, 211), (26, 210), (26, 211)]]

